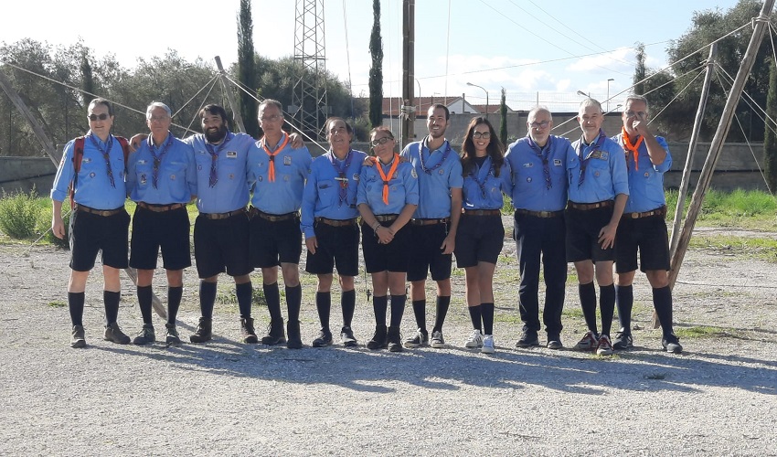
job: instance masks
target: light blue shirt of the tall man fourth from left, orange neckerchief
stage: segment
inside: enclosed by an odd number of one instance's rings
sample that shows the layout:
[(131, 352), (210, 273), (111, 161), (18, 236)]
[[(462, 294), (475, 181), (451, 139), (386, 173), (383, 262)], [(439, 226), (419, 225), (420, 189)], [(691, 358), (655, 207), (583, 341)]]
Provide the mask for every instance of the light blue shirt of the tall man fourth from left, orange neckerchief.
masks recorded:
[[(284, 139), (285, 136), (278, 142), (276, 149), (281, 147)], [(262, 144), (262, 140), (254, 143), (249, 152), (250, 182), (256, 183), (250, 199), (251, 205), (261, 212), (275, 215), (299, 211), (305, 179), (313, 162), (310, 151), (305, 146), (293, 149), (292, 143), (287, 143), (275, 154), (275, 181), (270, 181), (270, 155), (264, 151)]]

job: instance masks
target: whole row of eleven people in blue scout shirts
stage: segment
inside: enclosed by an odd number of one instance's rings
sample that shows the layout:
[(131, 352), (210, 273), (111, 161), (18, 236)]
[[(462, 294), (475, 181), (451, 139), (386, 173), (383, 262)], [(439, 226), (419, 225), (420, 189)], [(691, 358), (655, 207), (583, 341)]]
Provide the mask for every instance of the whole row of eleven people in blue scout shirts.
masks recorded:
[[(442, 325), (451, 303), (455, 253), (457, 266), (465, 271), (473, 324), (464, 345), (493, 353), (493, 281), (505, 238), (501, 209), (504, 196), (509, 196), (516, 209), (517, 298), (524, 323), (518, 347), (540, 344), (540, 266), (546, 285), (546, 345), (563, 347), (561, 313), (568, 262), (577, 270), (580, 305), (588, 326), (575, 348), (607, 356), (613, 349), (631, 347), (632, 282), (639, 250), (639, 266), (653, 287), (662, 344), (669, 352), (680, 352), (682, 346), (672, 330), (666, 274), (663, 174), (671, 166), (671, 155), (664, 139), (647, 127), (644, 97), (630, 96), (624, 106), (623, 130), (611, 138), (601, 130), (601, 104), (583, 101), (578, 116), (582, 135), (574, 143), (551, 135), (551, 113), (536, 107), (528, 114), (527, 136), (507, 148), (486, 118), (475, 117), (467, 126), (461, 154), (445, 138), (450, 112), (442, 104), (429, 109), (429, 134), (400, 154), (395, 151), (394, 135), (384, 126), (369, 133), (373, 154), (353, 149), (351, 125), (335, 117), (325, 124), (329, 151), (313, 159), (299, 135), (283, 131), (279, 101), (261, 102), (258, 118), (263, 136), (258, 141), (245, 133), (231, 133), (227, 112), (215, 104), (199, 112), (202, 133), (180, 140), (169, 131), (169, 107), (153, 102), (146, 111), (150, 133), (135, 135), (126, 148), (130, 152), (122, 150), (126, 140), (111, 133), (111, 103), (95, 99), (88, 108), (90, 131), (65, 146), (51, 191), (52, 229), (55, 236), (64, 238), (61, 208), (71, 189), (71, 345), (86, 345), (84, 290), (100, 250), (104, 339), (137, 345), (156, 340), (152, 279), (161, 250), (167, 277), (165, 342), (180, 344), (176, 318), (183, 271), (191, 266), (186, 205), (196, 200), (194, 257), (201, 317), (189, 336), (192, 343), (212, 338), (218, 276), (226, 272), (235, 282), (244, 343), (303, 347), (299, 263), (304, 243), (305, 271), (317, 277), (315, 306), (321, 328), (312, 341), (314, 347), (334, 343), (330, 326), (334, 271), (343, 315), (340, 341), (346, 346), (358, 344), (352, 321), (361, 245), (372, 280), (376, 325), (367, 348), (399, 352), (403, 347), (445, 346)], [(130, 217), (124, 208), (128, 196), (137, 204), (129, 259)], [(128, 266), (138, 271), (137, 298), (144, 321), (133, 339), (117, 323), (119, 271)], [(261, 339), (251, 315), (254, 269), (261, 269), (270, 314), (267, 334)], [(430, 275), (437, 286), (431, 331), (426, 319)], [(601, 327), (596, 322), (594, 278), (599, 285)], [(403, 341), (400, 326), (407, 282), (417, 330)], [(616, 305), (620, 330), (611, 339)]]

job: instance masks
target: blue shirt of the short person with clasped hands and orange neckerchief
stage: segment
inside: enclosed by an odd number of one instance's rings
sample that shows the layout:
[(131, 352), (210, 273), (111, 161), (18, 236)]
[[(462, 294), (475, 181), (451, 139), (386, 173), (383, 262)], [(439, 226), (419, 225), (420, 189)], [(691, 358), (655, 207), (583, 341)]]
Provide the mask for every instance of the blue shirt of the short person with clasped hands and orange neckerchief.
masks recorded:
[[(394, 159), (398, 160), (398, 159)], [(405, 205), (418, 205), (418, 175), (415, 168), (408, 162), (401, 162), (389, 176), (389, 204), (383, 202), (383, 178), (378, 173), (378, 166), (383, 168), (383, 174), (388, 175), (391, 165), (380, 162), (372, 166), (363, 166), (359, 177), (357, 206), (367, 204), (372, 214), (399, 214)]]

